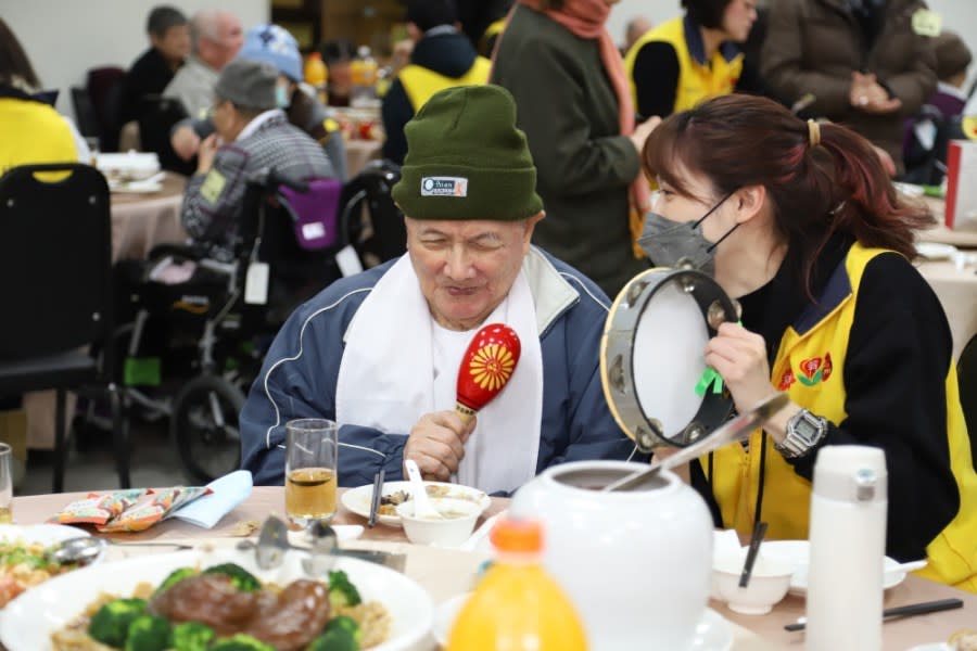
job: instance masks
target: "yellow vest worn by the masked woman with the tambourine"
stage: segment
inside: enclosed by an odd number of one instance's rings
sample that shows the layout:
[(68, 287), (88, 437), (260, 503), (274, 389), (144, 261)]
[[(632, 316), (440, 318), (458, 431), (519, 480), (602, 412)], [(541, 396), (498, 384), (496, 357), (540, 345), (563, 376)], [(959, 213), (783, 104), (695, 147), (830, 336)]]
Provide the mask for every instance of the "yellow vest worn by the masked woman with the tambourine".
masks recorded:
[[(850, 293), (803, 334), (788, 328), (774, 359), (771, 382), (786, 391), (798, 405), (840, 423), (845, 412), (842, 369), (848, 353), (848, 334), (858, 303), (859, 283), (865, 266), (880, 248), (851, 247), (845, 263)], [(956, 369), (947, 373), (947, 436), (953, 476), (960, 490), (960, 511), (927, 546), (929, 564), (917, 572), (926, 578), (977, 592), (977, 473), (970, 459), (970, 444), (960, 407)], [(760, 483), (762, 430), (750, 436), (749, 451), (729, 445), (714, 454), (713, 495), (722, 511), (723, 525), (749, 535), (753, 527), (757, 492)], [(811, 507), (811, 483), (766, 442), (763, 520), (769, 523), (770, 539), (807, 539)], [(708, 460), (700, 459), (707, 469)]]

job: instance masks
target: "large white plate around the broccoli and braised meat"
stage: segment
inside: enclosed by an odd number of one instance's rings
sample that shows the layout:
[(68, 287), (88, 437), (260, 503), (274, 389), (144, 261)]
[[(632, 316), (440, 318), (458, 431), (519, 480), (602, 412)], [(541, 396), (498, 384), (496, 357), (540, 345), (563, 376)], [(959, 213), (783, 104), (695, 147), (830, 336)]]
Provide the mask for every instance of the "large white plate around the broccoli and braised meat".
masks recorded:
[[(85, 567), (54, 577), (11, 601), (0, 613), (0, 641), (9, 651), (50, 651), (51, 633), (74, 620), (100, 592), (131, 596), (138, 583), (158, 584), (178, 567), (234, 562), (264, 582), (286, 585), (296, 578), (307, 578), (302, 571), (302, 559), (306, 556), (291, 551), (281, 566), (267, 572), (257, 569), (253, 553), (232, 549), (145, 556)], [(373, 651), (413, 649), (428, 635), (434, 608), (417, 583), (398, 572), (357, 559), (338, 559), (337, 569), (348, 574), (365, 601), (379, 601), (391, 614), (388, 640), (373, 647)]]

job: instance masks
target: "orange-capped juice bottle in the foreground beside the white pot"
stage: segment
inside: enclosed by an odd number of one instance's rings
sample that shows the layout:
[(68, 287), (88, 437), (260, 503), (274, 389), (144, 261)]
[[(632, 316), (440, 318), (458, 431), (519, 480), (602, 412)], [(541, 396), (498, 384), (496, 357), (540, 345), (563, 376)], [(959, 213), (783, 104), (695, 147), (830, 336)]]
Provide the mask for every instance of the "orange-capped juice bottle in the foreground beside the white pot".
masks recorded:
[(495, 563), (461, 609), (447, 651), (586, 651), (583, 624), (541, 564), (543, 525), (502, 520)]

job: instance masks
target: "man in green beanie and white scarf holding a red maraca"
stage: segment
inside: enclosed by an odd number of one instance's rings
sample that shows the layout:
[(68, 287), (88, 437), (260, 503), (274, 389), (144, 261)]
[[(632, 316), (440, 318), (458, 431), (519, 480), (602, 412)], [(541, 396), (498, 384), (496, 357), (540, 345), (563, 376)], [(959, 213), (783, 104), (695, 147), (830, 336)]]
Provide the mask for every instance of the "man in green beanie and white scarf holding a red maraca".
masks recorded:
[[(530, 245), (543, 219), (536, 169), (496, 86), (432, 97), (407, 124), (393, 197), (407, 255), (330, 285), (289, 319), (241, 412), (243, 467), (281, 484), (284, 424), (340, 423), (339, 483), (403, 476), (515, 490), (553, 464), (625, 459), (598, 379), (606, 295)], [(499, 395), (465, 425), (453, 411), (475, 331), (505, 322), (522, 356)]]

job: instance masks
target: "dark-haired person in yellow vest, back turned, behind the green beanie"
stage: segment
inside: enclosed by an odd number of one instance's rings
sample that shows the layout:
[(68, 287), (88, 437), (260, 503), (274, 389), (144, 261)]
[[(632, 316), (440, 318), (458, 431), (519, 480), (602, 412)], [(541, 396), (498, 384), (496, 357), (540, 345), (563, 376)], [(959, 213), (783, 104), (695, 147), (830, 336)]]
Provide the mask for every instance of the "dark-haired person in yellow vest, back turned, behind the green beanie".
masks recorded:
[(383, 95), (383, 157), (397, 165), (407, 154), (404, 125), (440, 90), (488, 81), (491, 63), (458, 28), (454, 0), (408, 0), (407, 31), (415, 41), (410, 63)]

